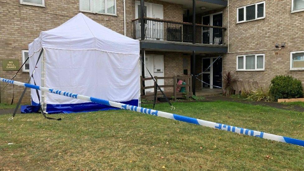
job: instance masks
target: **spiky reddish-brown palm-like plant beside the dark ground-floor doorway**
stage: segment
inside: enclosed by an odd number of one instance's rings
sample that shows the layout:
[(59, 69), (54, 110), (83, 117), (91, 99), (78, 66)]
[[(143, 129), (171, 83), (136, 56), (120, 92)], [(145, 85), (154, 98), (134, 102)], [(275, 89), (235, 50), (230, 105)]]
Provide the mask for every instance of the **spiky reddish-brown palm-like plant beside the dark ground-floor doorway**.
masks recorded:
[(223, 76), (223, 95), (230, 96), (233, 92), (233, 84), (237, 82), (237, 77), (235, 77), (230, 71), (224, 73)]

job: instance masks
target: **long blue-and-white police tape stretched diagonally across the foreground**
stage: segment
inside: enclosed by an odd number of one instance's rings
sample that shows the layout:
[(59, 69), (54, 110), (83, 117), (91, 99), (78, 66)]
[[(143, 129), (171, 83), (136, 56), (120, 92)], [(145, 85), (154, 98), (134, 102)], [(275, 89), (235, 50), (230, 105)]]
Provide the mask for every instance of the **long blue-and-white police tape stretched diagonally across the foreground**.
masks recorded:
[(112, 102), (112, 101), (103, 100), (103, 99), (99, 99), (99, 98), (95, 98), (95, 97), (88, 97), (88, 96), (64, 92), (64, 91), (60, 91), (60, 90), (54, 90), (54, 89), (50, 89), (50, 88), (36, 86), (33, 84), (21, 83), (18, 81), (13, 81), (13, 80), (5, 79), (5, 78), (0, 78), (0, 81), (5, 82), (5, 83), (10, 83), (10, 84), (15, 84), (18, 86), (24, 86), (27, 88), (33, 88), (36, 90), (41, 90), (41, 91), (45, 91), (45, 92), (49, 92), (49, 93), (55, 93), (55, 94), (59, 94), (59, 95), (67, 96), (67, 97), (77, 98), (77, 99), (81, 99), (81, 100), (88, 101), (88, 102), (95, 102), (98, 104), (103, 104), (103, 105), (107, 105), (107, 106), (131, 110), (131, 111), (135, 111), (135, 112), (141, 112), (141, 113), (145, 113), (145, 114), (149, 114), (149, 115), (160, 116), (160, 117), (188, 122), (188, 123), (192, 123), (192, 124), (196, 124), (196, 125), (207, 126), (207, 127), (211, 127), (211, 128), (220, 129), (220, 130), (235, 132), (235, 133), (249, 135), (249, 136), (255, 136), (255, 137), (259, 137), (259, 138), (264, 138), (264, 139), (268, 139), (268, 140), (275, 140), (275, 141), (279, 141), (279, 142), (304, 146), (303, 140), (298, 140), (298, 139), (289, 138), (289, 137), (285, 137), (285, 136), (268, 134), (265, 132), (249, 130), (249, 129), (240, 128), (240, 127), (236, 127), (236, 126), (224, 125), (221, 123), (216, 123), (216, 122), (211, 122), (211, 121), (204, 121), (201, 119), (181, 116), (181, 115), (157, 111), (157, 110), (153, 110), (153, 109), (147, 109), (144, 107), (126, 105), (126, 104), (119, 103), (119, 102)]

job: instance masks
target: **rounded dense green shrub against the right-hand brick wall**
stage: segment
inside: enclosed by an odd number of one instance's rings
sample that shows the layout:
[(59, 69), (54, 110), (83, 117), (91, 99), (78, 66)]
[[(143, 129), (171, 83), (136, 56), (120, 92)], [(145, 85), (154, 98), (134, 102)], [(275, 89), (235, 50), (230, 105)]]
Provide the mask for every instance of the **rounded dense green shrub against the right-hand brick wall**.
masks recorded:
[(271, 80), (270, 94), (274, 99), (303, 97), (302, 82), (292, 76), (277, 75)]

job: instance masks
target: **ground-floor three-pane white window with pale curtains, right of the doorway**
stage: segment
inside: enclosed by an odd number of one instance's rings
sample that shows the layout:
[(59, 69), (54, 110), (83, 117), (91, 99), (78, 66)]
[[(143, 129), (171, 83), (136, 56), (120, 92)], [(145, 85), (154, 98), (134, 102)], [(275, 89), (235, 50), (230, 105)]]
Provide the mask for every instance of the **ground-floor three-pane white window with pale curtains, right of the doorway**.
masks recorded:
[(236, 56), (237, 71), (264, 71), (265, 54), (238, 55)]

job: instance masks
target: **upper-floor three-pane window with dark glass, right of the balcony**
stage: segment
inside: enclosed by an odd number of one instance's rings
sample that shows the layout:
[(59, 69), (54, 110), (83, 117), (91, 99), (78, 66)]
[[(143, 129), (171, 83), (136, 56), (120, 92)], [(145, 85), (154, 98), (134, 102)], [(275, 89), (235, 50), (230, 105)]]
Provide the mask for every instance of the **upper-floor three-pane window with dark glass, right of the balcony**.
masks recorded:
[(237, 23), (265, 18), (265, 1), (238, 7), (236, 11)]

